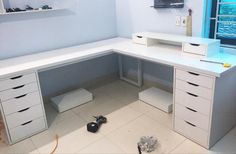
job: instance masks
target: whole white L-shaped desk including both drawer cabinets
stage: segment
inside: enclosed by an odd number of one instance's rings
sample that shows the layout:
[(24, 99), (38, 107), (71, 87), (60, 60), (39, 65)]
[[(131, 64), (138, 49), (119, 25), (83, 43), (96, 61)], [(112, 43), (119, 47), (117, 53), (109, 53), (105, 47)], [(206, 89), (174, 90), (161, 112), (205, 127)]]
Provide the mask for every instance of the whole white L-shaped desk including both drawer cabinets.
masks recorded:
[(1, 60), (0, 108), (9, 142), (47, 129), (38, 72), (118, 53), (175, 68), (173, 129), (210, 148), (236, 124), (236, 56), (218, 53), (205, 58), (232, 64), (224, 68), (180, 51), (178, 46), (146, 47), (113, 38)]

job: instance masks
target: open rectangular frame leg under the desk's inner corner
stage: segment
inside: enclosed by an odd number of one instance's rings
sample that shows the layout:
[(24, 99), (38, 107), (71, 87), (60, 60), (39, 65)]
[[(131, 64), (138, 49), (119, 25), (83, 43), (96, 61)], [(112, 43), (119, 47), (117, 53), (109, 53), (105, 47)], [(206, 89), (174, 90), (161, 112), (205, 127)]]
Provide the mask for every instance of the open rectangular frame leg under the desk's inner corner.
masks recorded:
[(138, 81), (135, 82), (133, 80), (130, 80), (130, 79), (124, 77), (122, 55), (119, 55), (118, 58), (119, 58), (119, 75), (120, 75), (120, 79), (124, 80), (124, 81), (126, 81), (126, 82), (128, 82), (130, 84), (133, 84), (135, 86), (141, 87), (142, 84), (143, 84), (142, 61), (140, 59), (137, 59), (137, 61), (138, 61), (138, 70), (137, 70), (137, 79), (138, 79)]

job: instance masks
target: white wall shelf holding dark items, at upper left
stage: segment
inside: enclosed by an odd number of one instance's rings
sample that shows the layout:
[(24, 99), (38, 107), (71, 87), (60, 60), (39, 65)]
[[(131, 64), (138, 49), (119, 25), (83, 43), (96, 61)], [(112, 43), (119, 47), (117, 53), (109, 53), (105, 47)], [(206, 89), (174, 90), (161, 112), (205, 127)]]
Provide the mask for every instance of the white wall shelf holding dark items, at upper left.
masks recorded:
[(51, 12), (51, 11), (59, 11), (64, 10), (64, 8), (53, 7), (52, 9), (47, 10), (28, 10), (28, 11), (20, 11), (20, 12), (6, 12), (6, 8), (4, 6), (4, 0), (0, 0), (0, 15), (16, 15), (16, 14), (28, 14), (28, 13), (38, 13), (38, 12)]

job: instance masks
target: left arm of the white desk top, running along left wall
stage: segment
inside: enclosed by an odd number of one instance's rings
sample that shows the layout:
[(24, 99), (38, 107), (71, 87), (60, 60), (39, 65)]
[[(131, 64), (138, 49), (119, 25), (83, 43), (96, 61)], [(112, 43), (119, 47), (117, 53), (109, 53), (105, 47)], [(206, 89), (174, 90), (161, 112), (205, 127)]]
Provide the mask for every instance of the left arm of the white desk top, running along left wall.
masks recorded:
[(25, 71), (40, 71), (112, 53), (112, 46), (126, 41), (114, 38), (0, 61), (0, 78)]

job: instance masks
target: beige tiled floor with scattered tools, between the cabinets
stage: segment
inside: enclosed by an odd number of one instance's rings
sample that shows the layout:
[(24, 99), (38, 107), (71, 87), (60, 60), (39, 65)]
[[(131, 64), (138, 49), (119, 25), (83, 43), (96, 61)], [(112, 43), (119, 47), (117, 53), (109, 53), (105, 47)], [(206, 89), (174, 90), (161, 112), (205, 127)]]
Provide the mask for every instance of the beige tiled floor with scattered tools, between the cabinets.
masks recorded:
[[(158, 138), (152, 153), (235, 153), (236, 128), (210, 151), (171, 130), (171, 116), (138, 100), (139, 89), (116, 81), (89, 89), (95, 100), (62, 114), (46, 106), (50, 128), (13, 146), (0, 144), (0, 153), (50, 153), (59, 135), (56, 153), (132, 153), (137, 154), (141, 136)], [(96, 134), (86, 131), (93, 115), (108, 118)]]

